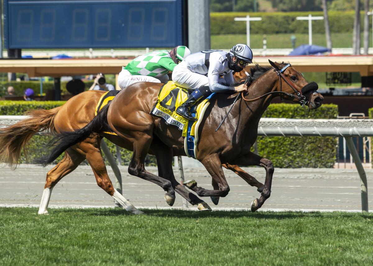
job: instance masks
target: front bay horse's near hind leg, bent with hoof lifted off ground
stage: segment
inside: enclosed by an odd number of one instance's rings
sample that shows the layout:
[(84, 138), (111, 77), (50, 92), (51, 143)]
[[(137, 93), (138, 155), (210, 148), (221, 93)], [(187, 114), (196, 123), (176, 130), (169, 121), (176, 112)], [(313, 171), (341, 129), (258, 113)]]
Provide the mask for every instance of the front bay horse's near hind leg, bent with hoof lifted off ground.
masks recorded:
[(131, 175), (148, 180), (162, 187), (162, 189), (167, 192), (164, 195), (164, 199), (168, 205), (172, 206), (175, 202), (175, 190), (173, 189), (171, 182), (145, 170), (145, 157), (149, 151), (151, 142), (152, 138), (150, 135), (142, 132), (137, 134), (133, 142), (134, 153), (128, 167), (128, 172)]

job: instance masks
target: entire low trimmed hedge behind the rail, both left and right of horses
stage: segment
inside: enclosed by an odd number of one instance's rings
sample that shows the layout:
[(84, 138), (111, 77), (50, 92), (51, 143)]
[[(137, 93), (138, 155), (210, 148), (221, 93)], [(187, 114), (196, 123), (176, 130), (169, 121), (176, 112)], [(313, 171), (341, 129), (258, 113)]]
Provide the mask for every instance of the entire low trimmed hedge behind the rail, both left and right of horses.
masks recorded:
[[(0, 115), (22, 115), (30, 109), (52, 109), (64, 103), (64, 101), (0, 101)], [(310, 112), (307, 108), (295, 104), (271, 104), (263, 117), (336, 118), (337, 114), (338, 107), (333, 104), (322, 105), (319, 109)], [(30, 154), (31, 159), (43, 154), (40, 147), (42, 143), (47, 142), (47, 139), (48, 136), (32, 137), (30, 150), (35, 152)], [(116, 158), (115, 145), (108, 140), (106, 143)], [(333, 167), (336, 159), (335, 146), (336, 140), (332, 137), (258, 137), (259, 155), (269, 158), (275, 167)], [(128, 165), (132, 152), (120, 149), (120, 155), (122, 164)], [(59, 162), (62, 156), (53, 163)], [(21, 162), (26, 162), (26, 158), (22, 156)], [(148, 155), (145, 163), (156, 165), (156, 158)]]

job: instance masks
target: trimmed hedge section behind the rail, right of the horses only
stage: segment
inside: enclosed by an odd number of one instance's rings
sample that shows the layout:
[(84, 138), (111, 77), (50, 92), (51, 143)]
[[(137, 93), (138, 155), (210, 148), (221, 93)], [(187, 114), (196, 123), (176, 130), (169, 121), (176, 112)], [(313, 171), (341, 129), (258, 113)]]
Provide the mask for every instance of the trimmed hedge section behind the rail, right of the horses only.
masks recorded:
[[(331, 119), (337, 115), (338, 106), (334, 104), (323, 104), (311, 111), (297, 104), (271, 104), (263, 117)], [(334, 137), (258, 137), (258, 154), (279, 168), (332, 168), (337, 140)]]

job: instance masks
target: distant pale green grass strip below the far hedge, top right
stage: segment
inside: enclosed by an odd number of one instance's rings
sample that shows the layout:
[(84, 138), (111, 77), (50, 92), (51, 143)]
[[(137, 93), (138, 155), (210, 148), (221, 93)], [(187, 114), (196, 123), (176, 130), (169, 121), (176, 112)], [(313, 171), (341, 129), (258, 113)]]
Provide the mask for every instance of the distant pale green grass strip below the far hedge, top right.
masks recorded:
[[(290, 37), (293, 34), (267, 34), (267, 48), (292, 48)], [(294, 34), (297, 37), (295, 47), (308, 44), (308, 34)], [(230, 49), (237, 43), (246, 43), (245, 34), (211, 35), (211, 49)], [(312, 43), (326, 46), (325, 34), (312, 34)], [(361, 34), (363, 44), (363, 34)], [(352, 33), (333, 33), (333, 48), (351, 48)], [(369, 38), (372, 47), (372, 36)], [(263, 48), (263, 34), (250, 34), (250, 48)]]

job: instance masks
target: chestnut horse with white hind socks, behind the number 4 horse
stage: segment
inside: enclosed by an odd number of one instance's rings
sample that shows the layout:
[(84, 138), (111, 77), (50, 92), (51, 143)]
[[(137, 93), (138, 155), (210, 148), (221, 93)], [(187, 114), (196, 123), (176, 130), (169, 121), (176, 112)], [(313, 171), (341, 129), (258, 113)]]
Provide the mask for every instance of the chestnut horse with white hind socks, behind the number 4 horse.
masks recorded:
[[(236, 73), (235, 77), (236, 80), (246, 77), (245, 71)], [(30, 110), (27, 113), (29, 118), (19, 121), (7, 128), (0, 129), (0, 162), (15, 169), (18, 165), (21, 151), (23, 150), (23, 154), (27, 157), (27, 144), (31, 137), (38, 132), (47, 130), (50, 133), (57, 134), (63, 131), (83, 128), (95, 117), (95, 107), (104, 93), (104, 91), (86, 91), (72, 97), (61, 107), (52, 110)], [(56, 186), (63, 177), (75, 170), (84, 159), (87, 159), (88, 164), (91, 166), (99, 187), (116, 199), (127, 211), (135, 214), (142, 213), (115, 190), (107, 174), (104, 159), (101, 155), (100, 140), (102, 137), (106, 137), (118, 146), (132, 150), (129, 143), (123, 142), (118, 136), (107, 133), (101, 133), (100, 135), (92, 134), (82, 142), (66, 149), (63, 159), (47, 173), (43, 196), (38, 211), (39, 214), (48, 213), (47, 208), (53, 187)], [(149, 153), (154, 154), (151, 150)], [(263, 184), (260, 182), (251, 180), (250, 175), (238, 166), (223, 166), (235, 171), (238, 175), (247, 180), (251, 186), (255, 185), (258, 188), (263, 187)], [(163, 168), (161, 163), (158, 164), (158, 171), (159, 175), (167, 176), (166, 173), (162, 174)], [(206, 202), (186, 190), (175, 178), (171, 178), (170, 181), (175, 190), (185, 197), (191, 205), (198, 205), (199, 210), (211, 210)]]

